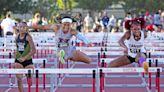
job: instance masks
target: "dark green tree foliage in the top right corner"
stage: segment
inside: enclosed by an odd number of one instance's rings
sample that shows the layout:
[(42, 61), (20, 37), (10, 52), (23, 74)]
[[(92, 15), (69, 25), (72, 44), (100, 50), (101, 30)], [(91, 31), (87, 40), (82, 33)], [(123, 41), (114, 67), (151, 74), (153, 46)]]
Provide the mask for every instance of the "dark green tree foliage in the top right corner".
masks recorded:
[(123, 8), (125, 11), (131, 12), (142, 12), (142, 11), (150, 11), (155, 12), (158, 9), (164, 9), (164, 2), (163, 0), (118, 0), (122, 3)]

